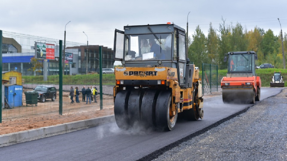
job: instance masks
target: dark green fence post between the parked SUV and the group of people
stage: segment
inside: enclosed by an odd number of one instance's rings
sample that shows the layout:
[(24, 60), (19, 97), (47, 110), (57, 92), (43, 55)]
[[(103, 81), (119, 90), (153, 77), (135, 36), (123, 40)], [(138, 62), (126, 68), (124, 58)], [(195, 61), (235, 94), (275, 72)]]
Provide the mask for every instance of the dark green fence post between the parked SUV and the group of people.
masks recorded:
[(63, 69), (62, 69), (62, 63), (63, 59), (62, 57), (62, 45), (63, 41), (59, 40), (59, 114), (63, 115)]

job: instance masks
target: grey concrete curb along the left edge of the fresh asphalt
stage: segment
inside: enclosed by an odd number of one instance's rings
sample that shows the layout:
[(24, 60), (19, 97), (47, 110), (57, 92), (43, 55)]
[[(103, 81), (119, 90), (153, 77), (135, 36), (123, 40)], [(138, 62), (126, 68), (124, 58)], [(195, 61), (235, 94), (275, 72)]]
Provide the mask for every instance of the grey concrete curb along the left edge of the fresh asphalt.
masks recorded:
[(104, 123), (114, 122), (115, 116), (103, 116), (88, 120), (74, 121), (71, 123), (63, 123), (59, 125), (47, 126), (37, 129), (14, 132), (10, 134), (0, 135), (0, 147), (23, 143), (26, 141), (37, 140), (45, 137), (50, 137), (59, 134), (65, 134), (81, 129), (87, 129), (94, 126), (99, 126)]

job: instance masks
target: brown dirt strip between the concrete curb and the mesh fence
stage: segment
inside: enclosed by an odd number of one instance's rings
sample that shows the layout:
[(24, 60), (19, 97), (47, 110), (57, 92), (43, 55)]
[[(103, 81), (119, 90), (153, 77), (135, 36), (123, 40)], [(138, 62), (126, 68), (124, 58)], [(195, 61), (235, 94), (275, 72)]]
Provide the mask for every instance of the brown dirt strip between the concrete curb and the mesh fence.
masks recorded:
[[(210, 95), (204, 95), (203, 98), (215, 97), (221, 95), (221, 92), (213, 92)], [(87, 120), (96, 117), (108, 116), (114, 114), (114, 108), (106, 107), (103, 110), (95, 109), (82, 111), (66, 115), (47, 115), (39, 117), (31, 117), (19, 120), (2, 121), (0, 123), (0, 135), (19, 132), (24, 130), (36, 129), (40, 127), (58, 125), (80, 120)]]

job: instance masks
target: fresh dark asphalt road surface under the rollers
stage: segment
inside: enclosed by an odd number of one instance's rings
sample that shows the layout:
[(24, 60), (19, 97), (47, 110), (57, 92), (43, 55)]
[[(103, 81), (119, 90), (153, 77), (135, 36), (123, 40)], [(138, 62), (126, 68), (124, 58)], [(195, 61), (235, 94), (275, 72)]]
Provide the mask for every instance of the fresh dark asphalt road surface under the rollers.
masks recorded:
[[(261, 100), (276, 95), (282, 88), (262, 88)], [(47, 137), (0, 148), (1, 160), (150, 160), (246, 111), (251, 104), (224, 104), (222, 97), (204, 100), (204, 119), (178, 119), (173, 131), (141, 128), (120, 130), (116, 123)]]

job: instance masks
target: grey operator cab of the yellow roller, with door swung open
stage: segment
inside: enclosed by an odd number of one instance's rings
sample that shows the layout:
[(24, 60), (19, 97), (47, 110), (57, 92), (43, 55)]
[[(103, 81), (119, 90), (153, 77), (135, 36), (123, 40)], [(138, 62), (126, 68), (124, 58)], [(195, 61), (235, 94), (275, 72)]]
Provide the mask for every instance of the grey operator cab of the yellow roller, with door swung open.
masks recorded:
[(114, 59), (124, 66), (186, 64), (185, 30), (175, 24), (125, 26), (115, 30)]

